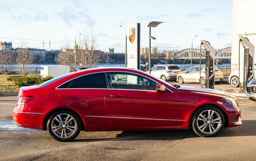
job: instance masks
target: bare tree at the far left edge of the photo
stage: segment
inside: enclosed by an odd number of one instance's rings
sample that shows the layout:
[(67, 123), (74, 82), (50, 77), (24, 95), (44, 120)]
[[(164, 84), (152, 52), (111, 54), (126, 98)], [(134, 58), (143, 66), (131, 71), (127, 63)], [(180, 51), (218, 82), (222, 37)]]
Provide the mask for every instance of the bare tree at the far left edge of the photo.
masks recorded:
[(0, 52), (0, 64), (1, 71), (7, 73), (9, 71), (9, 65), (13, 62), (13, 52), (10, 50)]

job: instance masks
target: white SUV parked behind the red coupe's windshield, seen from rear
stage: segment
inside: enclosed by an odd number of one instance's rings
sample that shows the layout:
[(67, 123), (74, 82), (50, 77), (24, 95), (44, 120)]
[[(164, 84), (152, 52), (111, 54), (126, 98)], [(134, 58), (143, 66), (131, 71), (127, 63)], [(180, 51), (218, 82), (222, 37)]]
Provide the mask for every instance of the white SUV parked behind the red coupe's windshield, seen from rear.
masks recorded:
[(176, 76), (180, 72), (181, 70), (177, 65), (156, 65), (151, 68), (151, 74), (163, 81), (176, 80)]

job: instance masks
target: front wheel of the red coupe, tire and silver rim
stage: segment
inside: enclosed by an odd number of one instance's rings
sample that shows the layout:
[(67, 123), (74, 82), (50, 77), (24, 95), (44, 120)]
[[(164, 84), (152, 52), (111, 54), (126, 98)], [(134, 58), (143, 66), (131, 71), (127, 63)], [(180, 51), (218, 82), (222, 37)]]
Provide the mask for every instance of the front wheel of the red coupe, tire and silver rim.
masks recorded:
[[(208, 111), (210, 111), (210, 117), (212, 116), (210, 119), (208, 117)], [(205, 105), (204, 107), (199, 108), (191, 117), (191, 121), (195, 134), (202, 137), (216, 136), (220, 134), (225, 127), (225, 117), (223, 116), (222, 111), (213, 105)]]

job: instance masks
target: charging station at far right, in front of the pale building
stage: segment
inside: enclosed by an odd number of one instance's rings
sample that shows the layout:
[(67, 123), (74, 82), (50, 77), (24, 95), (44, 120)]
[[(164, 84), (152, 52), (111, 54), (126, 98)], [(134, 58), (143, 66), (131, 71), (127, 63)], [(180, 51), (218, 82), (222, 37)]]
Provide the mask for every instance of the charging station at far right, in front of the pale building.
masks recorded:
[(246, 93), (248, 82), (253, 78), (254, 45), (244, 36), (239, 37), (239, 85), (240, 85), (240, 44), (244, 47), (243, 91)]

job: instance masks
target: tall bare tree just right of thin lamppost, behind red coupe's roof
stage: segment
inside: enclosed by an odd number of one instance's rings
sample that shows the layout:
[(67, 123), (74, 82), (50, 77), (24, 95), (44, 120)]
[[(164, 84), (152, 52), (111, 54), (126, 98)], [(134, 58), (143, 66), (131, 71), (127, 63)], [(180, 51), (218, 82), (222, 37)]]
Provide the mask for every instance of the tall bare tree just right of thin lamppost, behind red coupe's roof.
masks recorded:
[(93, 68), (98, 64), (99, 55), (94, 52), (97, 49), (97, 34), (92, 27), (88, 32), (82, 34), (79, 40), (79, 47), (76, 51), (76, 60), (80, 67)]

